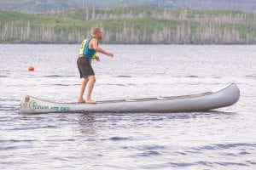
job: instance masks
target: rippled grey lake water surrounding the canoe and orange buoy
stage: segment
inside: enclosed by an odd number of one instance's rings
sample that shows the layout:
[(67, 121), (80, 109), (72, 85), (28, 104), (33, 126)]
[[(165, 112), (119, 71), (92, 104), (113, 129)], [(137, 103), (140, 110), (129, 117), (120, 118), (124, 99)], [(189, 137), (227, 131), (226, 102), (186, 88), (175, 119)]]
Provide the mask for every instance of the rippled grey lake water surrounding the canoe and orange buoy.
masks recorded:
[(20, 114), (26, 94), (77, 100), (79, 44), (2, 44), (0, 169), (256, 169), (256, 46), (102, 48), (115, 56), (93, 63), (93, 99), (197, 94), (230, 82), (241, 98), (208, 112)]

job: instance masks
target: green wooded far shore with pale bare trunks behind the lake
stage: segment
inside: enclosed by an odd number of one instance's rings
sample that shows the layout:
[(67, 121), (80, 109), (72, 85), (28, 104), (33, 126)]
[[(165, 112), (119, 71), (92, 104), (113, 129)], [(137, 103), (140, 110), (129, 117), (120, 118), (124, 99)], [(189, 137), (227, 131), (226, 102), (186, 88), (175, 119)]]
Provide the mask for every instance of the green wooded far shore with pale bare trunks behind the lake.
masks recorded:
[(0, 11), (0, 42), (79, 43), (95, 26), (104, 30), (104, 43), (256, 43), (255, 13), (143, 7)]

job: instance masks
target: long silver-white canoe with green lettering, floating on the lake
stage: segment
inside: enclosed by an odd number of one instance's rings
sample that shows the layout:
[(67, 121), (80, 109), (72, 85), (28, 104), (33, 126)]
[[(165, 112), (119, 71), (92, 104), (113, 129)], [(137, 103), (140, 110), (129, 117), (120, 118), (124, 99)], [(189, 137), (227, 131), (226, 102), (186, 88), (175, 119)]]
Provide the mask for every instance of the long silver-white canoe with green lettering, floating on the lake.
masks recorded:
[(119, 99), (98, 101), (96, 104), (55, 103), (26, 96), (21, 99), (21, 113), (48, 112), (187, 112), (209, 111), (230, 106), (240, 98), (236, 83), (218, 91), (183, 96)]

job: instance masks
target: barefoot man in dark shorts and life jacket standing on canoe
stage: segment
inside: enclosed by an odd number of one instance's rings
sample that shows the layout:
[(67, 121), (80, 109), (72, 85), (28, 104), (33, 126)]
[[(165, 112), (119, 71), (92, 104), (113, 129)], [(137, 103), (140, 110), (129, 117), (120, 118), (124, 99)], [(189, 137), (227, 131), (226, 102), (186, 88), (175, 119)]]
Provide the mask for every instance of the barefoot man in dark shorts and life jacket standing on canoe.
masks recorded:
[[(91, 34), (92, 37), (88, 37), (82, 42), (79, 51), (79, 59), (77, 61), (80, 78), (83, 78), (79, 92), (79, 103), (86, 104), (96, 104), (95, 100), (90, 99), (94, 83), (96, 82), (95, 73), (90, 65), (91, 59), (96, 59), (96, 61), (100, 61), (100, 58), (96, 56), (96, 52), (113, 57), (112, 53), (108, 53), (107, 51), (104, 51), (98, 46), (98, 42), (102, 39), (103, 34), (101, 29), (94, 28), (91, 30)], [(87, 89), (86, 99), (83, 98), (85, 88)]]

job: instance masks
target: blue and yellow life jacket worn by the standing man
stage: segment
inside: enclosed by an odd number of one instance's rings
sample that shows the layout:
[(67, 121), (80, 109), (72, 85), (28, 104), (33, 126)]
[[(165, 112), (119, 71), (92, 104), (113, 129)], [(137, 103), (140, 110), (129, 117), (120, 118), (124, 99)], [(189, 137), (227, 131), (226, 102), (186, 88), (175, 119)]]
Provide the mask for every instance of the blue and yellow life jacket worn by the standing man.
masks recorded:
[(84, 55), (84, 57), (89, 60), (95, 59), (96, 50), (89, 48), (89, 42), (92, 38), (95, 38), (95, 37), (88, 37), (88, 38), (84, 39), (84, 41), (81, 43), (80, 50), (79, 50), (79, 56)]

